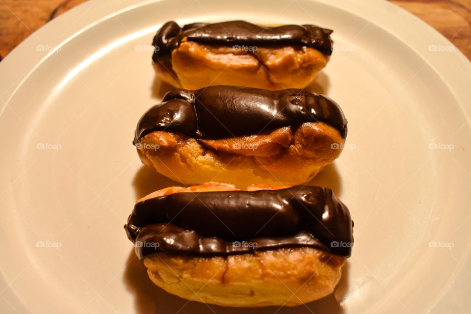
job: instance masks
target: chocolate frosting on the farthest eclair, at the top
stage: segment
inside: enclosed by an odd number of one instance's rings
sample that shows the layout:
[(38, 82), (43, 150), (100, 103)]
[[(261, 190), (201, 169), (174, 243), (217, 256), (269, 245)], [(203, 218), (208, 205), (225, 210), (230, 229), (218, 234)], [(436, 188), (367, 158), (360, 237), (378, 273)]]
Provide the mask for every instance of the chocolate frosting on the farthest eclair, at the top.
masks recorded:
[[(182, 39), (205, 45), (221, 46), (304, 46), (326, 55), (332, 54), (331, 29), (315, 25), (259, 26), (245, 21), (222, 23), (193, 23), (180, 27), (174, 21), (165, 23), (157, 31), (152, 59), (169, 57), (180, 46)], [(158, 49), (157, 49), (158, 47)]]

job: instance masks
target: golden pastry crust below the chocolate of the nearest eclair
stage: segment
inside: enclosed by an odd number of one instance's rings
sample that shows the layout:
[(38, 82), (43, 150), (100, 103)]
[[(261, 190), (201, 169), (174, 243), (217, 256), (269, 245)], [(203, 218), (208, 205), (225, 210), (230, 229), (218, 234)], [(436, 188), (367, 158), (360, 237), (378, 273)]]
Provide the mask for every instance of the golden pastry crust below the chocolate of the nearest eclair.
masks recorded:
[(322, 298), (340, 281), (344, 257), (315, 248), (233, 256), (158, 253), (144, 260), (149, 278), (182, 298), (231, 307), (296, 306)]

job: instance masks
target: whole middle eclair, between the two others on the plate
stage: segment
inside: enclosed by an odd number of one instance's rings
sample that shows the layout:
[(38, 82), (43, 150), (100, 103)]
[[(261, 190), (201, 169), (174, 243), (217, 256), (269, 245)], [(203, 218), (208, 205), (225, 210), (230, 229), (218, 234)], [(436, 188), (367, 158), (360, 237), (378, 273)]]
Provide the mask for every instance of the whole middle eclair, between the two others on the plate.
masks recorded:
[(296, 185), (340, 156), (347, 121), (328, 97), (299, 89), (209, 86), (168, 92), (141, 117), (141, 161), (185, 184)]

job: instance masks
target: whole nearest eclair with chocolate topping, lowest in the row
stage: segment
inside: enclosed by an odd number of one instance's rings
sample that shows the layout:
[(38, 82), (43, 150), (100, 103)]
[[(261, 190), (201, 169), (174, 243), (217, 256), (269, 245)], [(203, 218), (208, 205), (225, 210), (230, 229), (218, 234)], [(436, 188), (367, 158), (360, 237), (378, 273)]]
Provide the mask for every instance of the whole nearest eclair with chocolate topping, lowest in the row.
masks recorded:
[(317, 186), (169, 187), (138, 200), (124, 227), (158, 287), (230, 307), (322, 298), (353, 246), (348, 209)]

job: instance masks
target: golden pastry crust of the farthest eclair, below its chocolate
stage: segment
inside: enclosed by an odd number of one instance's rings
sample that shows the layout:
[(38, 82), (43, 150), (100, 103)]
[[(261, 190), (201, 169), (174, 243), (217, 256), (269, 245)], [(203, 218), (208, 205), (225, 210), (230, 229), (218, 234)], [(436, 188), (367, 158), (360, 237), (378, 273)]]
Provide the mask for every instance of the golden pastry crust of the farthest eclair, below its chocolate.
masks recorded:
[(157, 76), (175, 87), (237, 85), (269, 90), (304, 88), (330, 56), (309, 47), (258, 47), (255, 51), (183, 39), (172, 56), (154, 62)]

